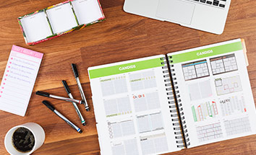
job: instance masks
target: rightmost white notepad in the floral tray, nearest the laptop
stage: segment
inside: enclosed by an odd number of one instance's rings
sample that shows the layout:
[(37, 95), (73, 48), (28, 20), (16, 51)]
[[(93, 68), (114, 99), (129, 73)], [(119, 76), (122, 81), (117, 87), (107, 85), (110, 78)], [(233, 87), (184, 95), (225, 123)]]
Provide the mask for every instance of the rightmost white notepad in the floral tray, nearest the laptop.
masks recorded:
[(72, 5), (80, 25), (95, 22), (103, 17), (98, 0), (74, 0)]

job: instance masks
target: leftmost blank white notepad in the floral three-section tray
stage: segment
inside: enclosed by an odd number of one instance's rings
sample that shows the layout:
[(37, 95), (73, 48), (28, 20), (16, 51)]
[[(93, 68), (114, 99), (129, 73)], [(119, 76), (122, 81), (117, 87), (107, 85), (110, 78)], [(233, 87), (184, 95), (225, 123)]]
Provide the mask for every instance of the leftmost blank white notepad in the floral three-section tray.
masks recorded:
[(30, 15), (21, 19), (23, 30), (27, 37), (27, 42), (36, 42), (53, 35), (51, 27), (46, 19), (45, 12)]

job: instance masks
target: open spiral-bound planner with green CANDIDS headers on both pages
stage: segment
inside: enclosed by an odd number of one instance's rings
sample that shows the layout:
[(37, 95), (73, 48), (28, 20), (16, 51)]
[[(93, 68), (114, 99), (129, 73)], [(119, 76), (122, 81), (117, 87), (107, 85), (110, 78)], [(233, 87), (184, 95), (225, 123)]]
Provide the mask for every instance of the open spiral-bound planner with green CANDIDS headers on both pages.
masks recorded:
[(101, 154), (164, 154), (256, 133), (242, 40), (88, 68)]

